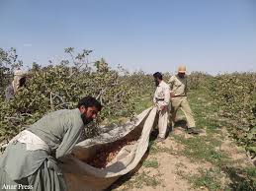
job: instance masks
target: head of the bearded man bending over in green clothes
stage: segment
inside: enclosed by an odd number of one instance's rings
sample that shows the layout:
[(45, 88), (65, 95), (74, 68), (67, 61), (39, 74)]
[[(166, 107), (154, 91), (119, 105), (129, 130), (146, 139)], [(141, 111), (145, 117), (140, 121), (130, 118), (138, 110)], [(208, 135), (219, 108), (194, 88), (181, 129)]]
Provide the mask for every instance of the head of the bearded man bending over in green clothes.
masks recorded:
[(85, 96), (81, 98), (77, 107), (81, 112), (81, 118), (85, 125), (93, 121), (98, 112), (102, 109), (101, 103), (92, 96)]

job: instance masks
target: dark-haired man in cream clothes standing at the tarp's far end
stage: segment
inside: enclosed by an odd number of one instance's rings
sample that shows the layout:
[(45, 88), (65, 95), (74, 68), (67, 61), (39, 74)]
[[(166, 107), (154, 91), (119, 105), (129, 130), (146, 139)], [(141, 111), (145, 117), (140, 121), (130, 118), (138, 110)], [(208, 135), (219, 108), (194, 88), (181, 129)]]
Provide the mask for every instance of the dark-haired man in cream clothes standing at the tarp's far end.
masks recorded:
[(156, 72), (153, 74), (156, 90), (153, 97), (153, 102), (157, 106), (159, 119), (158, 128), (159, 135), (157, 138), (158, 142), (162, 142), (165, 139), (168, 116), (169, 116), (169, 103), (170, 103), (170, 87), (163, 81), (162, 74)]

